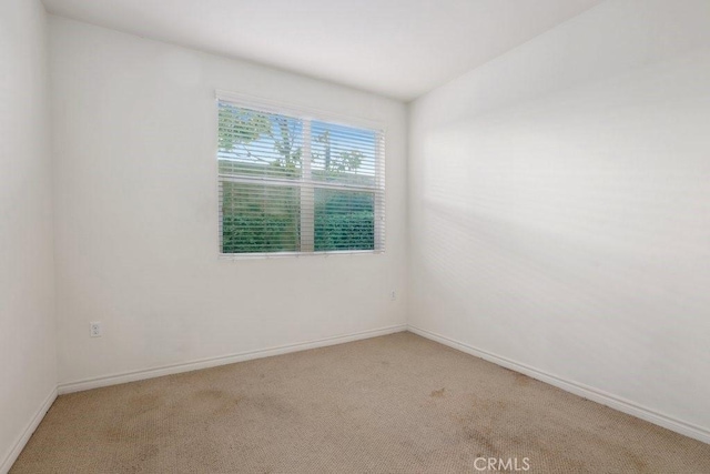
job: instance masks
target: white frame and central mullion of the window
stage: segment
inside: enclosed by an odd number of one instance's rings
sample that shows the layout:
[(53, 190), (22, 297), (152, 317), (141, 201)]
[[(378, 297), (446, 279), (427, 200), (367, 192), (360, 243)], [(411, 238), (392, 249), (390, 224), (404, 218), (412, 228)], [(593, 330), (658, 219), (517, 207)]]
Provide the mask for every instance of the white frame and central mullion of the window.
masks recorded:
[[(301, 251), (298, 252), (252, 252), (252, 253), (224, 253), (222, 252), (223, 242), (222, 242), (222, 224), (223, 224), (223, 215), (222, 215), (222, 201), (221, 201), (221, 186), (222, 186), (222, 177), (219, 172), (219, 160), (214, 160), (216, 165), (216, 181), (217, 181), (217, 213), (219, 213), (219, 222), (217, 222), (217, 245), (219, 245), (219, 254), (220, 259), (223, 260), (251, 260), (251, 259), (277, 259), (277, 258), (288, 258), (288, 256), (328, 256), (328, 255), (373, 255), (373, 254), (384, 254), (387, 248), (386, 245), (386, 232), (385, 228), (387, 221), (385, 219), (385, 206), (386, 206), (386, 192), (387, 188), (385, 186), (385, 174), (386, 174), (386, 158), (385, 158), (385, 148), (386, 148), (386, 135), (387, 131), (382, 122), (371, 121), (366, 119), (358, 119), (348, 115), (326, 112), (320, 109), (293, 105), (285, 102), (273, 101), (264, 98), (258, 98), (254, 95), (247, 95), (236, 92), (230, 92), (225, 90), (217, 89), (215, 91), (215, 104), (219, 101), (231, 102), (236, 107), (243, 107), (245, 109), (257, 110), (266, 113), (277, 113), (287, 117), (297, 118), (304, 121), (304, 131), (303, 131), (303, 161), (302, 161), (302, 180), (306, 181), (305, 185), (301, 184), (301, 195), (304, 196), (305, 193), (315, 192), (315, 188), (324, 188), (324, 189), (336, 189), (336, 190), (351, 190), (351, 191), (374, 191), (375, 192), (375, 202), (374, 202), (374, 212), (375, 212), (375, 228), (374, 228), (374, 239), (375, 239), (375, 249), (374, 250), (335, 250), (335, 251), (320, 251), (315, 252), (314, 249), (314, 230), (310, 229), (306, 225), (308, 232), (303, 232), (304, 226), (302, 225), (301, 232)], [(217, 125), (217, 115), (219, 107), (215, 107), (215, 127)], [(353, 128), (362, 128), (368, 130), (378, 131), (382, 134), (382, 141), (377, 141), (378, 150), (376, 151), (377, 160), (382, 160), (382, 163), (378, 163), (375, 167), (375, 183), (374, 188), (367, 186), (353, 186), (353, 185), (337, 185), (337, 184), (328, 184), (328, 183), (318, 183), (317, 185), (313, 185), (310, 179), (311, 173), (311, 122), (312, 121), (324, 121), (328, 123), (353, 127)], [(217, 137), (215, 131), (214, 137)], [(215, 140), (216, 142), (216, 140)], [(382, 148), (382, 149), (379, 149)], [(215, 151), (213, 158), (216, 158), (219, 153), (219, 148), (215, 147)], [(306, 159), (308, 158), (308, 159)], [(284, 183), (286, 184), (286, 183)], [(292, 183), (287, 183), (292, 184)], [(303, 201), (303, 200), (302, 200)], [(305, 202), (313, 202), (313, 200), (306, 200)], [(303, 212), (303, 208), (301, 208), (301, 220), (302, 223), (304, 221), (308, 221), (308, 215)], [(315, 209), (306, 210), (311, 213), (315, 212)], [(313, 216), (311, 216), (313, 218)], [(313, 222), (313, 219), (311, 219)], [(379, 224), (378, 224), (379, 222)], [(377, 248), (377, 242), (381, 242), (381, 248)], [(303, 250), (310, 249), (310, 250)]]

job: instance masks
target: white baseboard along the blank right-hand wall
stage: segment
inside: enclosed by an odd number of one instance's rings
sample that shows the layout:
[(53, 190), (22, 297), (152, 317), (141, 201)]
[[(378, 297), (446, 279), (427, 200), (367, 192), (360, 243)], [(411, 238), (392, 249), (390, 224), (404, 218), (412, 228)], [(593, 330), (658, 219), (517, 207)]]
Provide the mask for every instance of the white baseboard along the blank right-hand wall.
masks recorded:
[(525, 365), (525, 364), (511, 361), (509, 359), (501, 357), (496, 354), (491, 354), (490, 352), (483, 351), (480, 349), (474, 347), (463, 342), (455, 341), (453, 339), (443, 336), (440, 334), (436, 334), (434, 332), (424, 330), (422, 327), (409, 325), (408, 330), (423, 337), (429, 339), (432, 341), (436, 341), (440, 344), (447, 345), (449, 347), (456, 349), (467, 354), (475, 355), (476, 357), (480, 357), (485, 361), (493, 362), (494, 364), (504, 366), (506, 369), (510, 369), (513, 371), (528, 375), (532, 379), (537, 379), (541, 382), (554, 385), (566, 392), (574, 393), (575, 395), (582, 396), (585, 399), (588, 399), (594, 402), (600, 403), (602, 405), (609, 406), (611, 409), (618, 410), (619, 412), (623, 412), (631, 416), (646, 420), (647, 422), (674, 431), (676, 433), (680, 433), (688, 437), (692, 437), (694, 440), (710, 444), (710, 431), (703, 427), (700, 427), (680, 420), (676, 420), (671, 416), (663, 415), (653, 410), (650, 410), (637, 403), (633, 403), (629, 400), (625, 400), (622, 397), (612, 395), (610, 393), (606, 393), (604, 391), (594, 389), (588, 385), (560, 379), (556, 375), (548, 374), (544, 371), (537, 370), (529, 365)]

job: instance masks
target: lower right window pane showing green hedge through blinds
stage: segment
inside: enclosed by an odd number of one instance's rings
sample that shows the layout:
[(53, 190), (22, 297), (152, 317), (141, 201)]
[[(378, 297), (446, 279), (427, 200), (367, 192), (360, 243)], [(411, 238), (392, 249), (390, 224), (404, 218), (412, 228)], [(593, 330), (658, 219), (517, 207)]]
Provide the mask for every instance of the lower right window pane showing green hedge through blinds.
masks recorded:
[(315, 251), (374, 250), (373, 192), (315, 189)]

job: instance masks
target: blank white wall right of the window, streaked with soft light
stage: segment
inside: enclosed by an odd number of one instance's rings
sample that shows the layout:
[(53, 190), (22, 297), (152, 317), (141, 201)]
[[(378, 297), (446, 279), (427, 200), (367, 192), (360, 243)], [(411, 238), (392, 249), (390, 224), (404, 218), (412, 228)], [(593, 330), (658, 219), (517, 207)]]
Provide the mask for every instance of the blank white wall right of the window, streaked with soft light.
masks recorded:
[(710, 434), (710, 2), (609, 0), (410, 115), (409, 323)]

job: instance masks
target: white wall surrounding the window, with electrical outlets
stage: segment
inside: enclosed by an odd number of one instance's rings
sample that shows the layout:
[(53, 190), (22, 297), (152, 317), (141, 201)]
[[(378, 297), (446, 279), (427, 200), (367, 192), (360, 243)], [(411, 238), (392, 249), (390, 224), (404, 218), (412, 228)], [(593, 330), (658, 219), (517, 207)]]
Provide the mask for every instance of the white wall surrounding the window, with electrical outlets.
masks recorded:
[[(50, 41), (60, 383), (405, 323), (404, 104), (58, 17)], [(384, 123), (386, 253), (220, 260), (215, 89)]]

